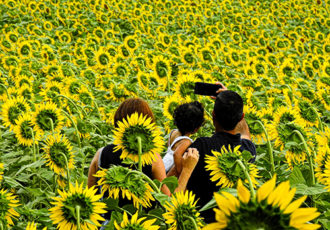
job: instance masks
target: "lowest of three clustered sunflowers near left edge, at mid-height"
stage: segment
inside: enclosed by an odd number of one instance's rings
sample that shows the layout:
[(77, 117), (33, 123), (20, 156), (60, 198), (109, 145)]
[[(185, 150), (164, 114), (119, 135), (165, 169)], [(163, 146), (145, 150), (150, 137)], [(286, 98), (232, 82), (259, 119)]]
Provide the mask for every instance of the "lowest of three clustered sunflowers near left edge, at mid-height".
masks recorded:
[(13, 131), (19, 144), (31, 146), (33, 142), (37, 143), (41, 139), (41, 133), (34, 128), (32, 118), (28, 113), (19, 116), (16, 121)]

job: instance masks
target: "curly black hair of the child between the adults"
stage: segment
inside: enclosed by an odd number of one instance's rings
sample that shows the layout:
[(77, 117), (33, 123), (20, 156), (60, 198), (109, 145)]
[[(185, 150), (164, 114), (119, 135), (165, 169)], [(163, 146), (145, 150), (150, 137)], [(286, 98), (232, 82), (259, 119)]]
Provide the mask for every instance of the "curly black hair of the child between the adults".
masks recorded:
[(192, 133), (204, 122), (204, 108), (198, 101), (185, 103), (174, 110), (173, 118), (182, 135)]

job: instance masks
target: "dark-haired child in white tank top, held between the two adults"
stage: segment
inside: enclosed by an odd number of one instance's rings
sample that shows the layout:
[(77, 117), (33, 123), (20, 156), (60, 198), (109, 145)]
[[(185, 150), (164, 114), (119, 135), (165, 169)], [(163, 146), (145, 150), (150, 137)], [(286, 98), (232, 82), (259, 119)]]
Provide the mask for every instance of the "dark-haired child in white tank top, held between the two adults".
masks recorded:
[[(198, 131), (204, 122), (204, 108), (198, 101), (178, 106), (173, 114), (178, 129), (170, 132), (168, 148), (163, 158), (168, 176), (179, 176), (182, 170), (182, 157), (193, 140), (190, 136)], [(175, 167), (173, 167), (175, 165)]]

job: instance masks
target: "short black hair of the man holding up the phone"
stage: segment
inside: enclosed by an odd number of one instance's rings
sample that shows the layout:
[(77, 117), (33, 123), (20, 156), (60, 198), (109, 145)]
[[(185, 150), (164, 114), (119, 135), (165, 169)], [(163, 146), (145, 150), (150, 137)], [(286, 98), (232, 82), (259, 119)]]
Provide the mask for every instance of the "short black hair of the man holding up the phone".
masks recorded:
[(243, 99), (231, 90), (219, 93), (214, 104), (214, 114), (224, 130), (235, 129), (243, 116)]

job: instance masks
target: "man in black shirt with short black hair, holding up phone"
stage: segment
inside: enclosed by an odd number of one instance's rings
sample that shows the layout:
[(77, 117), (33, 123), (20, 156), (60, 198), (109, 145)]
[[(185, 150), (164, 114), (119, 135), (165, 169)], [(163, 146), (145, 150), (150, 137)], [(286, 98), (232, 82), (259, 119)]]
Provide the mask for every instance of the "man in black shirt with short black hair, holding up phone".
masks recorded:
[[(210, 172), (206, 171), (205, 156), (212, 155), (211, 151), (220, 152), (221, 147), (230, 145), (232, 148), (240, 145), (239, 150), (249, 151), (255, 159), (256, 148), (251, 142), (249, 127), (244, 119), (243, 100), (239, 94), (228, 90), (219, 83), (220, 88), (215, 98), (212, 112), (215, 134), (211, 137), (197, 138), (189, 147), (196, 148), (200, 153), (200, 159), (189, 179), (187, 190), (199, 197), (198, 205), (203, 207), (219, 188), (212, 182)], [(253, 161), (254, 161), (253, 159)], [(209, 209), (202, 212), (206, 223), (214, 222), (214, 212)]]

